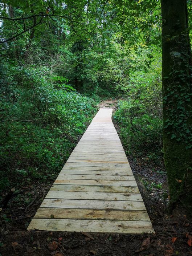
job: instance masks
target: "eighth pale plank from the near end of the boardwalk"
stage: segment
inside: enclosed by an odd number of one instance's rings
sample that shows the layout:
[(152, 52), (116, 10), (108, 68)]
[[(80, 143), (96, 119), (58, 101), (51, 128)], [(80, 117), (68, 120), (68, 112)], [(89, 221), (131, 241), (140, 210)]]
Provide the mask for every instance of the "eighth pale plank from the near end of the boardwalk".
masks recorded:
[(61, 170), (60, 174), (85, 174), (85, 175), (115, 175), (115, 176), (129, 176), (132, 171), (93, 171), (93, 170)]

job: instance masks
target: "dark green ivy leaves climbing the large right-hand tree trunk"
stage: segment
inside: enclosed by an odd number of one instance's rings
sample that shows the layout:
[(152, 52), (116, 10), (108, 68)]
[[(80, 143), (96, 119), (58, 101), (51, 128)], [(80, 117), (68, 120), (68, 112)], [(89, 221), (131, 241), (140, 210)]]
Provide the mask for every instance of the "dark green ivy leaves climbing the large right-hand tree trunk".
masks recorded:
[[(173, 40), (173, 39), (172, 39)], [(171, 52), (174, 61), (175, 58), (183, 63), (183, 70), (177, 70), (175, 67), (169, 73), (169, 77), (164, 77), (170, 88), (166, 89), (163, 97), (164, 106), (167, 109), (164, 129), (171, 139), (177, 142), (183, 142), (186, 149), (192, 148), (192, 92), (191, 92), (191, 72), (189, 65), (189, 55), (185, 52)], [(186, 72), (188, 70), (188, 72)], [(177, 81), (177, 82), (175, 82)]]

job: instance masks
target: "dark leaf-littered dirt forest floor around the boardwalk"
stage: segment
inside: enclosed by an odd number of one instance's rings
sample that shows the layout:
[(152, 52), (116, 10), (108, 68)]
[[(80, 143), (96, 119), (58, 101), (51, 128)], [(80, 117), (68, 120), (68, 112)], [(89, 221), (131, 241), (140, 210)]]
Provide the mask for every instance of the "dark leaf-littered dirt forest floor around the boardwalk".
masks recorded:
[[(117, 100), (99, 107), (116, 108)], [(117, 124), (115, 128), (119, 131)], [(33, 215), (52, 185), (34, 182), (21, 188), (21, 194), (9, 200), (1, 211), (0, 251), (2, 256), (188, 256), (192, 255), (192, 220), (176, 206), (168, 215), (166, 172), (163, 163), (154, 165), (128, 156), (155, 234), (143, 235), (27, 231)], [(147, 180), (147, 182), (146, 182)], [(160, 184), (154, 186), (151, 184)], [(5, 196), (5, 195), (4, 195)], [(22, 202), (30, 200), (28, 206)], [(165, 202), (164, 202), (165, 201)]]

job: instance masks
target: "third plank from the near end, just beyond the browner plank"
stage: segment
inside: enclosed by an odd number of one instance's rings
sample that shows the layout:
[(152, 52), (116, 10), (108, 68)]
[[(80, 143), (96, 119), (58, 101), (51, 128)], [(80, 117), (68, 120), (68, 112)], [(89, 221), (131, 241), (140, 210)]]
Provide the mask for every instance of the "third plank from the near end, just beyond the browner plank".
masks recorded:
[(115, 209), (115, 210), (146, 210), (143, 202), (115, 200), (78, 200), (78, 199), (44, 199), (44, 208), (81, 208), (81, 209)]

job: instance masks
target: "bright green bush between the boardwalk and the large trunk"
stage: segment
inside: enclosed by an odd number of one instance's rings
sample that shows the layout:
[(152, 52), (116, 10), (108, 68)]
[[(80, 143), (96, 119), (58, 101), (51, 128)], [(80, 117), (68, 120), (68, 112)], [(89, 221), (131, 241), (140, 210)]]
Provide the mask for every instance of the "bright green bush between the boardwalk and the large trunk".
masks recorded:
[(162, 89), (160, 62), (136, 70), (124, 89), (114, 119), (128, 154), (149, 160), (162, 158)]

